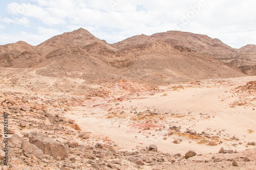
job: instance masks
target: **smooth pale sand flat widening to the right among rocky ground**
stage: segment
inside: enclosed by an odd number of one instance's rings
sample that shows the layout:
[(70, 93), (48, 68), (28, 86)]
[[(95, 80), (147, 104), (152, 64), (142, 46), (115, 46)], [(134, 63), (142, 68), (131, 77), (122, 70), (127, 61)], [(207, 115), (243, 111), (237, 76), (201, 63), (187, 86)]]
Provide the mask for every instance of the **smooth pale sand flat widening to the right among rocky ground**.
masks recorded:
[[(256, 111), (253, 110), (256, 102), (254, 100), (244, 106), (230, 107), (241, 96), (248, 98), (245, 94), (233, 94), (230, 90), (251, 80), (256, 80), (256, 77), (205, 80), (196, 85), (176, 85), (175, 88), (174, 85), (164, 86), (159, 87), (164, 92), (155, 95), (142, 93), (138, 99), (122, 102), (101, 100), (96, 101), (98, 105), (96, 107), (93, 107), (95, 103), (84, 103), (85, 107), (76, 108), (76, 111), (68, 112), (67, 116), (75, 119), (84, 131), (109, 136), (124, 149), (144, 148), (156, 144), (159, 151), (170, 154), (185, 154), (190, 149), (198, 154), (218, 153), (222, 147), (240, 152), (254, 147), (252, 145), (246, 147), (246, 145), (247, 142), (256, 140)], [(110, 107), (116, 112), (124, 113), (109, 117)], [(134, 110), (137, 112), (155, 110), (162, 115), (134, 119), (134, 113), (131, 113)], [(155, 123), (154, 120), (158, 121)], [(181, 132), (189, 128), (211, 135), (220, 134), (218, 141), (223, 143), (216, 146), (207, 145), (207, 142), (198, 144), (201, 137), (184, 135), (184, 133), (166, 136), (168, 127), (173, 125), (181, 126)], [(143, 130), (147, 126), (151, 129)], [(164, 126), (165, 129), (155, 131)], [(230, 137), (234, 135), (240, 140), (231, 140)], [(167, 137), (166, 140), (163, 139), (164, 136)], [(183, 141), (176, 144), (173, 142), (175, 138)], [(234, 143), (237, 145), (232, 145)]]

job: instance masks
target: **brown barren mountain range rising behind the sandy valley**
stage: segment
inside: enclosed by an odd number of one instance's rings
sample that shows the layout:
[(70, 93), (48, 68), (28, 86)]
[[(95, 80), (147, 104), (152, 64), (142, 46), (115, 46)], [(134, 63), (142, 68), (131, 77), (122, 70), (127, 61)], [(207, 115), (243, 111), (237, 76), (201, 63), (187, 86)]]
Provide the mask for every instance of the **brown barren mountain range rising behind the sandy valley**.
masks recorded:
[(36, 68), (36, 74), (87, 83), (129, 80), (151, 86), (256, 75), (256, 45), (232, 48), (219, 39), (180, 31), (137, 35), (109, 44), (82, 28), (37, 46), (0, 46), (0, 66)]

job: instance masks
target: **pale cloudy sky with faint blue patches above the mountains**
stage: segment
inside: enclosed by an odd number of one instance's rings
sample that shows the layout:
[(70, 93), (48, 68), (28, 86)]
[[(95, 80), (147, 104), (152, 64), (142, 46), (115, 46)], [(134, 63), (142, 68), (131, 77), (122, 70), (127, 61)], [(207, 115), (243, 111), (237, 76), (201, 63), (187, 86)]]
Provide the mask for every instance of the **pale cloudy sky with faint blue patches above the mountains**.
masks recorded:
[(256, 44), (254, 0), (5, 0), (0, 45), (38, 45), (79, 28), (115, 43), (134, 35), (179, 30), (240, 48)]

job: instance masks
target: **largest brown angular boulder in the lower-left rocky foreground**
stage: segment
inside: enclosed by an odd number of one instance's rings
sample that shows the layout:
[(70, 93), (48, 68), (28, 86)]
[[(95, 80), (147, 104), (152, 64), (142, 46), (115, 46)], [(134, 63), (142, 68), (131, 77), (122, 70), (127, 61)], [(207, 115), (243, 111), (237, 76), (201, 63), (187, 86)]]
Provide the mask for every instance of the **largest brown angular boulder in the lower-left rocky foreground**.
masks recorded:
[(65, 146), (49, 137), (37, 135), (31, 140), (31, 143), (41, 149), (44, 154), (51, 155), (53, 159), (57, 159), (58, 156), (61, 158), (68, 158)]

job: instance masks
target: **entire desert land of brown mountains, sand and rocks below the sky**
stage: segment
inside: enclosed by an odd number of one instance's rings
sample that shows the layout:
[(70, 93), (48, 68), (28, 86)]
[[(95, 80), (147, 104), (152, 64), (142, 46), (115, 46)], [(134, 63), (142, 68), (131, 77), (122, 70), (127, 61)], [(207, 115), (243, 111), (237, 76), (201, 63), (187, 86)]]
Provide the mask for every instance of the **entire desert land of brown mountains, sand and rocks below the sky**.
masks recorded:
[(1, 45), (0, 78), (0, 169), (256, 169), (256, 45), (80, 28)]

